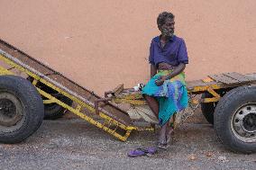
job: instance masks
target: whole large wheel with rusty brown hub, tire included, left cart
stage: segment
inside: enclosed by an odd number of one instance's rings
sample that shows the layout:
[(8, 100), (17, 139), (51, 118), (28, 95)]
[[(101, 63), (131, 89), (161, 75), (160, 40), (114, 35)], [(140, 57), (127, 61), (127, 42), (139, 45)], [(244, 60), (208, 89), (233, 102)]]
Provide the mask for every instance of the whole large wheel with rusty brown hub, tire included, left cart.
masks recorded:
[(36, 88), (21, 76), (0, 76), (0, 142), (17, 143), (41, 126), (43, 103)]

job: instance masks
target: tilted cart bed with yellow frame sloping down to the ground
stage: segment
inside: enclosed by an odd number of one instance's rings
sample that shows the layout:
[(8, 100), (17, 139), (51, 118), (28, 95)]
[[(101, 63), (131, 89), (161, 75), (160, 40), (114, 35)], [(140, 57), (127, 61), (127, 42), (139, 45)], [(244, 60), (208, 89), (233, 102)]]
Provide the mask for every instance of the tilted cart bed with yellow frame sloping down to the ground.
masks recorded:
[[(0, 40), (0, 60), (4, 61), (4, 65), (6, 65), (1, 67), (2, 75), (14, 74), (14, 69), (19, 70), (24, 75), (34, 78), (33, 85), (37, 86), (37, 83), (41, 82), (60, 94), (69, 97), (73, 101), (73, 106), (62, 103), (51, 94), (37, 87), (39, 93), (48, 99), (44, 103), (58, 103), (85, 121), (96, 125), (96, 127), (123, 141), (129, 137), (132, 130), (137, 129), (133, 127), (132, 120), (126, 112), (105, 100), (102, 101), (101, 97), (92, 91), (45, 66), (4, 40)], [(96, 105), (97, 107), (95, 107)], [(101, 120), (96, 119), (96, 116)]]

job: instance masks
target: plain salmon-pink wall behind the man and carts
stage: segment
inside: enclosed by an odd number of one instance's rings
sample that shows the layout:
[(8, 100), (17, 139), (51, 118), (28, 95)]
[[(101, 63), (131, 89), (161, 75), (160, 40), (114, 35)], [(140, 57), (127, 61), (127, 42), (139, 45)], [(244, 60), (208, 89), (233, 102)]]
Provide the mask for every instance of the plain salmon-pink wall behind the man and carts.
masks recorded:
[(255, 0), (2, 0), (0, 37), (98, 94), (149, 78), (156, 17), (176, 15), (187, 80), (255, 72)]

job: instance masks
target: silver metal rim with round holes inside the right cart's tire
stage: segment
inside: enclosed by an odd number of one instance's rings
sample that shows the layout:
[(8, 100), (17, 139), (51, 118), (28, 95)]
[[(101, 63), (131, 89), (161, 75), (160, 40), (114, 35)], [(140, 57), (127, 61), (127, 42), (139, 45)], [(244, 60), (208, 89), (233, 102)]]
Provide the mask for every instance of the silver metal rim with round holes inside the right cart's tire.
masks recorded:
[(233, 114), (232, 130), (244, 142), (256, 141), (256, 104), (244, 105)]

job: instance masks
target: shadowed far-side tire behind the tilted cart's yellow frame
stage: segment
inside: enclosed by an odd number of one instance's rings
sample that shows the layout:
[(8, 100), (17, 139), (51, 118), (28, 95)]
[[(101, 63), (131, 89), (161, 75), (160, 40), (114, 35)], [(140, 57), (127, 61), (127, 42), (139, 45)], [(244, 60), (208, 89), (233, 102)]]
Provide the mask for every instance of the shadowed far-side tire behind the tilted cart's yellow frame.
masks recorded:
[[(66, 97), (65, 95), (62, 95), (62, 94), (60, 94), (58, 99), (61, 102), (68, 104), (69, 106), (71, 106), (73, 103), (72, 100), (70, 100), (68, 97)], [(44, 119), (45, 120), (59, 119), (60, 117), (62, 117), (65, 114), (66, 111), (67, 111), (67, 109), (63, 108), (62, 106), (60, 106), (57, 103), (53, 103), (50, 106), (48, 106), (48, 104), (44, 104)]]

